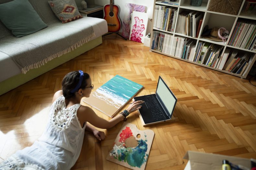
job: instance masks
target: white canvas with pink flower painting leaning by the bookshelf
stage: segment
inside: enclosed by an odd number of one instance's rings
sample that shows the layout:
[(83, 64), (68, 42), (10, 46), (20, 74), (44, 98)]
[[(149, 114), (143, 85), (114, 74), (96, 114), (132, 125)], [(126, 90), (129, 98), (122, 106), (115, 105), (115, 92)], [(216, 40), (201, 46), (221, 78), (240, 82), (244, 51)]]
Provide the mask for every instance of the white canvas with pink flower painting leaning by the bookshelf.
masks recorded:
[(148, 16), (144, 12), (133, 11), (130, 40), (144, 43)]

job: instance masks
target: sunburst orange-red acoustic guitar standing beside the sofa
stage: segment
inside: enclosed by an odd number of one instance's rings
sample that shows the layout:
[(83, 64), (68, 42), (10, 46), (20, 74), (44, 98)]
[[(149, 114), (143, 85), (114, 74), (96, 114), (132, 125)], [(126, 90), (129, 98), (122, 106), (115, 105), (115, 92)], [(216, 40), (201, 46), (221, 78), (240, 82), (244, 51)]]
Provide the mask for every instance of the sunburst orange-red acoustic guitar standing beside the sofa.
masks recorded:
[(121, 19), (119, 17), (120, 8), (118, 5), (114, 5), (113, 0), (110, 0), (110, 4), (104, 6), (104, 18), (108, 23), (108, 31), (117, 33), (122, 28)]

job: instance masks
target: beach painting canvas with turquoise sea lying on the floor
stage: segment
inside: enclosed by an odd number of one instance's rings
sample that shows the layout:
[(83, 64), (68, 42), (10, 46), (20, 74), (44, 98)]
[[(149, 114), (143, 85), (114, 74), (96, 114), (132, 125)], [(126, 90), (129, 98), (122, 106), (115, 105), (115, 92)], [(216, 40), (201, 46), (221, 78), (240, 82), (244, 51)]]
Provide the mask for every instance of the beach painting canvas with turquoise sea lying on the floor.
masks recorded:
[(83, 101), (113, 117), (142, 87), (143, 85), (116, 75)]

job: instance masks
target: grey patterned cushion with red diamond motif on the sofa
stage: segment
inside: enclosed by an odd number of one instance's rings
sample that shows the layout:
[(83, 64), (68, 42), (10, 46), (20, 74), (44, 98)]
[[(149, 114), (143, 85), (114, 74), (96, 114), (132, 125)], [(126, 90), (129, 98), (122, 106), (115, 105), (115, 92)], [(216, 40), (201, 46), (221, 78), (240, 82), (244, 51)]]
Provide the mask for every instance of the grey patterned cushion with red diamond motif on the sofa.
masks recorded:
[(83, 17), (79, 13), (74, 0), (54, 0), (48, 1), (48, 3), (62, 23), (68, 23)]

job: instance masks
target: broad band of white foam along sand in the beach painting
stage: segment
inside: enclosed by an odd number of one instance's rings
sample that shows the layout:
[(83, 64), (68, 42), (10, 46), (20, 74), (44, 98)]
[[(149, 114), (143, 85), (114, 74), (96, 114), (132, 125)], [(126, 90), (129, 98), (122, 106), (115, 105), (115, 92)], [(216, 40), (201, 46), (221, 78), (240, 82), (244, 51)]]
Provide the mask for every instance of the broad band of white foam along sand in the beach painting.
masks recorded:
[(108, 91), (107, 89), (100, 87), (96, 91), (94, 91), (92, 95), (97, 97), (100, 100), (105, 101), (108, 105), (112, 105), (118, 109), (126, 103), (127, 99), (121, 96), (115, 95), (113, 92)]

